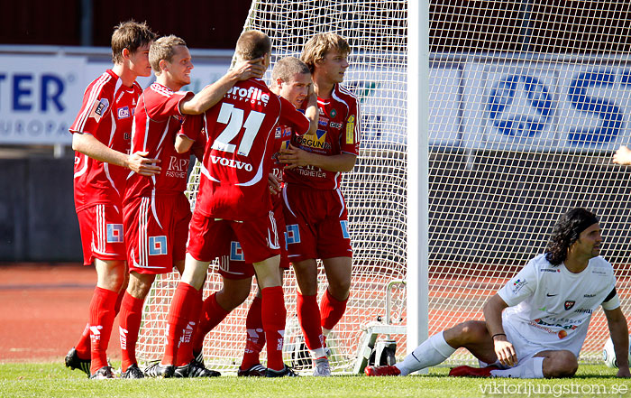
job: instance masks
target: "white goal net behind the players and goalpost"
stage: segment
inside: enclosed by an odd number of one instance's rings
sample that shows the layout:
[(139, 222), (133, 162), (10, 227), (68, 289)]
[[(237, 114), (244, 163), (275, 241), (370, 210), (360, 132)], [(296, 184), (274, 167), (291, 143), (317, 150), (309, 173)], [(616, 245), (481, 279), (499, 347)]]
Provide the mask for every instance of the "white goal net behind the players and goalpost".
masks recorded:
[[(543, 252), (553, 223), (577, 206), (599, 215), (602, 255), (616, 268), (618, 294), (629, 314), (631, 169), (612, 164), (611, 156), (630, 135), (630, 19), (622, 0), (430, 2), (430, 119), (423, 133), (429, 138), (430, 335), (482, 319), (483, 302)], [(363, 329), (407, 320), (405, 288), (390, 283), (406, 278), (406, 159), (415, 155), (407, 154), (406, 137), (419, 134), (406, 131), (407, 2), (255, 0), (244, 29), (270, 35), (271, 68), (281, 57), (299, 56), (317, 32), (337, 32), (353, 50), (344, 84), (361, 102), (361, 153), (342, 184), (353, 246), (352, 292), (327, 339), (334, 370), (348, 371)], [(196, 168), (189, 184), (192, 206), (197, 176)], [(321, 297), (322, 269), (319, 278)], [(177, 273), (158, 278), (145, 302), (141, 360), (161, 356), (177, 280)], [(297, 352), (301, 332), (291, 271), (284, 287), (285, 359), (300, 366), (307, 354)], [(214, 264), (205, 296), (219, 289)], [(207, 366), (239, 366), (255, 292), (252, 286), (250, 298), (206, 337)], [(405, 335), (391, 338), (403, 356)], [(597, 361), (606, 338), (599, 310), (581, 360)], [(452, 361), (471, 358), (461, 350)]]

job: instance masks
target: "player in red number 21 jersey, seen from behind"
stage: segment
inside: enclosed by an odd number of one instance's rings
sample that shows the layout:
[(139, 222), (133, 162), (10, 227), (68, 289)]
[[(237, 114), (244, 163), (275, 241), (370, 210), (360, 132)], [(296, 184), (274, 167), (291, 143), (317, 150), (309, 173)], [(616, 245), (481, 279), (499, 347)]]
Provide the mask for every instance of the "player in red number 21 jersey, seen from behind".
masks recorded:
[[(237, 60), (270, 65), (271, 41), (260, 31), (242, 33)], [(172, 373), (176, 343), (197, 314), (187, 310), (201, 301), (199, 290), (208, 264), (223, 255), (233, 234), (242, 245), (243, 258), (253, 264), (261, 286), (261, 318), (268, 341), (267, 376), (293, 375), (282, 360), (285, 302), (279, 276), (279, 237), (268, 191), (276, 125), (288, 125), (304, 134), (315, 122), (277, 97), (261, 79), (235, 85), (206, 112), (206, 151), (197, 203), (188, 235), (187, 259), (169, 309), (169, 338), (157, 373)], [(180, 151), (194, 136), (180, 135)], [(176, 143), (178, 145), (178, 143)], [(201, 302), (200, 302), (201, 303)]]

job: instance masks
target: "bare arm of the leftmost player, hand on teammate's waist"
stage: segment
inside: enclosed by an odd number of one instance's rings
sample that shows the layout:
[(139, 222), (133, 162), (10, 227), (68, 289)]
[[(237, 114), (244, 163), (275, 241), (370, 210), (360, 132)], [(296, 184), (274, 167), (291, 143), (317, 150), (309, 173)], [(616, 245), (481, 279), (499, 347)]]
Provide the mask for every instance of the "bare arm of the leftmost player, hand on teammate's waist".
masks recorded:
[(125, 167), (144, 176), (160, 174), (160, 166), (156, 165), (160, 159), (146, 158), (146, 152), (128, 155), (114, 151), (98, 141), (92, 134), (72, 134), (72, 149), (97, 161)]

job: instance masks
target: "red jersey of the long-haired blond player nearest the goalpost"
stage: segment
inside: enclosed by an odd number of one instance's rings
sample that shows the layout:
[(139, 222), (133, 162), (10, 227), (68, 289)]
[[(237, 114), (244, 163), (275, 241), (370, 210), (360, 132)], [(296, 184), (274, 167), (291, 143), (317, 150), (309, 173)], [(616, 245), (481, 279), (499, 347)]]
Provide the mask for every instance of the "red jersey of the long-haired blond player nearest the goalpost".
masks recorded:
[[(335, 85), (330, 98), (317, 98), (320, 109), (315, 135), (294, 134), (291, 143), (308, 152), (327, 156), (340, 153), (360, 153), (360, 105), (351, 91)], [(286, 169), (284, 180), (291, 184), (306, 185), (316, 190), (340, 188), (342, 173), (325, 171), (314, 166)]]

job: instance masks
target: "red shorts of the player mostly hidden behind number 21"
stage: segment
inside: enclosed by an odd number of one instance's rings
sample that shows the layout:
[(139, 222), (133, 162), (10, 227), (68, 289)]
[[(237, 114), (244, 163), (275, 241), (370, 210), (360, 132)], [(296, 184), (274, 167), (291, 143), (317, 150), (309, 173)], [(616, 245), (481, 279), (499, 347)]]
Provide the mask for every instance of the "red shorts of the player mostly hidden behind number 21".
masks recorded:
[[(287, 244), (285, 242), (285, 218), (283, 217), (283, 201), (278, 196), (272, 196), (272, 206), (274, 206), (274, 218), (279, 231), (280, 244), (280, 268), (289, 269), (287, 255)], [(244, 279), (254, 276), (254, 267), (251, 263), (246, 263), (243, 256), (241, 244), (233, 233), (230, 245), (226, 247), (224, 255), (219, 256), (219, 274), (227, 279)]]

